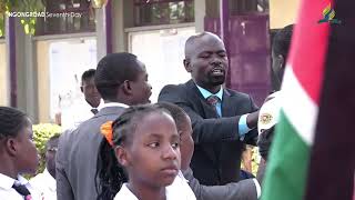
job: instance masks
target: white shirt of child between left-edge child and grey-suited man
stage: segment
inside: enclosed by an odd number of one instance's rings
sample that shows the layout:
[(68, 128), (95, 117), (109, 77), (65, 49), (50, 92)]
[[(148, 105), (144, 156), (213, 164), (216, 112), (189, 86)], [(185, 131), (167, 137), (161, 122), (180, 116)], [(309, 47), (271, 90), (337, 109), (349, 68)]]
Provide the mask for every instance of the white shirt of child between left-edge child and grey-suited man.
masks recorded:
[(57, 181), (49, 173), (47, 168), (43, 173), (39, 173), (30, 180), (30, 184), (40, 191), (45, 200), (57, 200)]

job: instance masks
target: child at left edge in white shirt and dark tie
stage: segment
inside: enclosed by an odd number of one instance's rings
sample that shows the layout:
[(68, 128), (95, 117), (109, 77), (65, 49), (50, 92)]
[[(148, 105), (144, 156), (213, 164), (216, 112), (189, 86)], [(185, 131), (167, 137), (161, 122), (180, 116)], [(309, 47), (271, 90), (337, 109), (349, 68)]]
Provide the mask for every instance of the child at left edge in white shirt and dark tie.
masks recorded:
[(20, 174), (34, 173), (39, 163), (32, 123), (26, 113), (0, 107), (0, 199), (42, 200)]

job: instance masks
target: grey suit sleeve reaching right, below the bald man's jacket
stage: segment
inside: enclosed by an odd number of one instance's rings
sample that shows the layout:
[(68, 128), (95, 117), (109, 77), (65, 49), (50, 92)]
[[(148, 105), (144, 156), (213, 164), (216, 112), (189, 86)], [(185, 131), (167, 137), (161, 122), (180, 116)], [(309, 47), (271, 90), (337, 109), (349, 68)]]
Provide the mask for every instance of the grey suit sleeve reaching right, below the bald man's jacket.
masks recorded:
[(231, 182), (225, 186), (202, 186), (193, 177), (191, 169), (183, 171), (196, 200), (257, 200), (256, 186), (253, 179)]

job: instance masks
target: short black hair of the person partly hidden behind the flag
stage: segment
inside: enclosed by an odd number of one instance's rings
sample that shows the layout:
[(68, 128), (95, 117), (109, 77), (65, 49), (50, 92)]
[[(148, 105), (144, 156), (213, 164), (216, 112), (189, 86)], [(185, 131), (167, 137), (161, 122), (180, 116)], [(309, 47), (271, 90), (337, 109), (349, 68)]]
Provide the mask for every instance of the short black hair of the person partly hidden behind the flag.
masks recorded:
[(291, 39), (293, 32), (293, 24), (286, 26), (278, 30), (273, 41), (273, 52), (275, 54), (282, 54), (285, 59), (288, 56)]

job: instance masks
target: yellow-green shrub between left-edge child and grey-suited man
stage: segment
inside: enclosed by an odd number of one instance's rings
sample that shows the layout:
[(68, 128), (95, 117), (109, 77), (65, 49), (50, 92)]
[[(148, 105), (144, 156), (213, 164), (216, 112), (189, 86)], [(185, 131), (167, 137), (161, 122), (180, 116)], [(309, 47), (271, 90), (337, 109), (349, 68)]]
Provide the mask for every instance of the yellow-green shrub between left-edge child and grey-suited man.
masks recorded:
[(33, 140), (34, 140), (34, 143), (36, 143), (36, 148), (37, 148), (38, 152), (41, 156), (40, 167), (37, 170), (37, 173), (40, 173), (45, 168), (44, 154), (45, 154), (45, 143), (47, 143), (47, 141), (51, 137), (53, 137), (55, 134), (60, 134), (62, 130), (61, 130), (60, 126), (53, 124), (53, 123), (34, 124), (32, 127), (32, 129), (33, 129)]

